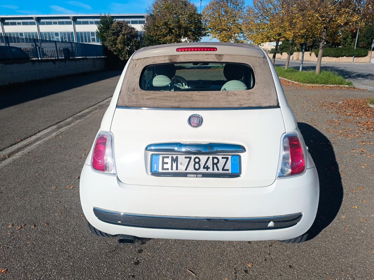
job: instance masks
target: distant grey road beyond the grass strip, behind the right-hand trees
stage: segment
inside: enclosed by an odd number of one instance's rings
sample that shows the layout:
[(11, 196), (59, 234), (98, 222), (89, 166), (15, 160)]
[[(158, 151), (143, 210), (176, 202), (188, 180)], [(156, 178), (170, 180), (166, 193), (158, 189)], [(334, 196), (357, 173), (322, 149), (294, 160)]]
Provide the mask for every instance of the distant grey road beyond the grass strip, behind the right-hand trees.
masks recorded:
[[(284, 66), (286, 60), (276, 59), (275, 65)], [(300, 61), (289, 62), (290, 67), (299, 69)], [(316, 69), (315, 62), (303, 62), (303, 69)], [(371, 63), (328, 63), (322, 62), (321, 69), (332, 70), (338, 72), (341, 76), (358, 88), (374, 90), (374, 64)]]

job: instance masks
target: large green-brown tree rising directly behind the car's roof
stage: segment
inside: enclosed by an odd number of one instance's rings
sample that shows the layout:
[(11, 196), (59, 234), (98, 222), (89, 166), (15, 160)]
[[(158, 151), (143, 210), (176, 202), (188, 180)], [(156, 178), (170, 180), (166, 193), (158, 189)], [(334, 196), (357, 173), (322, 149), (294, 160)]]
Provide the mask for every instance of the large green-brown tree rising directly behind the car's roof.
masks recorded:
[(144, 24), (147, 46), (199, 42), (206, 35), (201, 15), (190, 0), (155, 0)]

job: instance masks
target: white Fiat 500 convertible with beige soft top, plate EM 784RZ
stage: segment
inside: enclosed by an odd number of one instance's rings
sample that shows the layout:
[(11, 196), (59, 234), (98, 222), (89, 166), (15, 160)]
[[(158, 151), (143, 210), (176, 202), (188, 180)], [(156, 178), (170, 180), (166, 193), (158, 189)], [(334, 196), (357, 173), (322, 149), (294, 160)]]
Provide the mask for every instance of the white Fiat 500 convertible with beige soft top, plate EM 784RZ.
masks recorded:
[(145, 47), (123, 70), (80, 177), (91, 231), (298, 243), (318, 174), (257, 46)]

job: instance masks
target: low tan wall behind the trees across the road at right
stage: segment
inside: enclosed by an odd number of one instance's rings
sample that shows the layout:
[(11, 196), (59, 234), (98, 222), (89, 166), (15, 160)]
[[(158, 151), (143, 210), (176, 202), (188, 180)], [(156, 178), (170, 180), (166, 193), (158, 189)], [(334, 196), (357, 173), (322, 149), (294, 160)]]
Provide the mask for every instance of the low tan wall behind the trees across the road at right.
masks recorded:
[[(302, 55), (301, 52), (295, 52), (293, 55), (291, 55), (290, 60), (301, 60), (301, 55)], [(269, 53), (269, 56), (271, 57), (272, 54)], [(276, 59), (287, 59), (287, 56), (288, 56), (287, 53), (282, 53), (282, 54), (277, 53), (275, 58)], [(373, 56), (374, 56), (374, 52), (373, 52), (373, 55), (371, 56), (372, 60), (373, 60)], [(369, 52), (368, 56), (355, 57), (355, 63), (370, 63), (369, 59), (370, 59), (370, 52)], [(304, 53), (304, 61), (317, 62), (317, 57), (313, 52), (305, 52)], [(347, 57), (347, 56), (344, 56), (344, 57), (322, 56), (322, 62), (340, 62), (340, 63), (348, 62), (348, 63), (351, 63), (352, 62), (352, 56), (350, 56), (350, 57)], [(374, 63), (374, 61), (372, 61), (371, 63)]]

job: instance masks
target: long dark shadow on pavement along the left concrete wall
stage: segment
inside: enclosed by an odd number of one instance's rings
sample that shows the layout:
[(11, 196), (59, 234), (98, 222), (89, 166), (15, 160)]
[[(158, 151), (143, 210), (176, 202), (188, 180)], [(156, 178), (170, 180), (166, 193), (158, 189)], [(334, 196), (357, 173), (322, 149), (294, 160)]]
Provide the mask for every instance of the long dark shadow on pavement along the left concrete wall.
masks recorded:
[(62, 76), (0, 87), (0, 109), (42, 98), (72, 88), (119, 76), (121, 71), (102, 71)]

